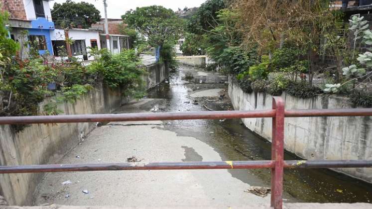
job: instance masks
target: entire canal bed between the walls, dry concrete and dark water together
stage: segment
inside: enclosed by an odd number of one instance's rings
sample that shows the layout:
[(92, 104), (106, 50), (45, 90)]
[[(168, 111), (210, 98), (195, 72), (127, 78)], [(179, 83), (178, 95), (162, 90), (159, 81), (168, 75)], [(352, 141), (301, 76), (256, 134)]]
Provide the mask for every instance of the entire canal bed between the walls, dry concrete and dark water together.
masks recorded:
[[(131, 101), (116, 113), (232, 110), (227, 87), (224, 75), (180, 66), (146, 99)], [(270, 159), (270, 143), (238, 119), (112, 122), (98, 124), (58, 163), (127, 162), (131, 157), (143, 163), (261, 160)], [(285, 158), (295, 159), (290, 154)], [(48, 173), (34, 205), (228, 208), (269, 203), (270, 195), (244, 192), (269, 184), (268, 169)], [(284, 187), (284, 202), (289, 203), (372, 201), (369, 184), (325, 169), (286, 170)]]

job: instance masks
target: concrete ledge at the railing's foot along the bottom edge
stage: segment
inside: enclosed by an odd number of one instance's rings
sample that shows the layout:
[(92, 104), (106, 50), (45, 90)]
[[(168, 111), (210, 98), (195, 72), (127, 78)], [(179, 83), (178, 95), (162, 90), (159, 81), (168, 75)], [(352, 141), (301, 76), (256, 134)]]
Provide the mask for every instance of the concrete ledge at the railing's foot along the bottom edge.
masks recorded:
[[(156, 203), (154, 203), (156, 205)], [(151, 207), (157, 209), (165, 209), (163, 207)], [(169, 207), (173, 208), (173, 207)], [(203, 208), (214, 209), (212, 207), (190, 206), (177, 207), (178, 209), (189, 208)], [(0, 206), (0, 209), (144, 209), (143, 207), (117, 207), (117, 206), (33, 206), (33, 207), (19, 207), (19, 206)], [(268, 204), (252, 204), (242, 207), (234, 207), (234, 209), (272, 209)], [(283, 205), (283, 209), (372, 209), (372, 204), (367, 203), (288, 203)]]

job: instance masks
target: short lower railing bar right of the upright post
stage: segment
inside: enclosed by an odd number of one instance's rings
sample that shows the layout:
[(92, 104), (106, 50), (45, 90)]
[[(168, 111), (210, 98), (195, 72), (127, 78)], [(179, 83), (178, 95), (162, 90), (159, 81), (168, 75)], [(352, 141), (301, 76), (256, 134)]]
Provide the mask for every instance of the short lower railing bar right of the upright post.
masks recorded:
[(372, 160), (287, 160), (286, 168), (371, 168)]

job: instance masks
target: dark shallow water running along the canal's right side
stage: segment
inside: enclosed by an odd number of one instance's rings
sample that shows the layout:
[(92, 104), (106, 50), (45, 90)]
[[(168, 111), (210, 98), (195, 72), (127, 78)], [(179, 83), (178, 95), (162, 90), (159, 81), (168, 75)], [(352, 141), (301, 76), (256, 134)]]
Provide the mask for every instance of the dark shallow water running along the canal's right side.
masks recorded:
[[(213, 72), (181, 66), (171, 74), (167, 83), (153, 89), (148, 98), (166, 99), (159, 111), (208, 111), (204, 105), (214, 110), (232, 110), (228, 98), (227, 78)], [(221, 88), (224, 98), (193, 98), (194, 91)], [(191, 91), (190, 91), (191, 90)], [(205, 92), (205, 91), (204, 91)], [(191, 96), (190, 96), (191, 95)], [(208, 94), (206, 94), (208, 95)], [(199, 95), (199, 96), (202, 96)], [(221, 100), (222, 99), (222, 100)], [(197, 100), (197, 105), (192, 103)], [(177, 132), (182, 136), (193, 136), (212, 146), (223, 160), (269, 160), (271, 143), (252, 133), (239, 119), (221, 120), (178, 120), (168, 121), (164, 129)], [(300, 159), (291, 153), (285, 160)], [(191, 161), (197, 161), (191, 159)], [(250, 185), (270, 187), (270, 171), (229, 170), (233, 177)], [(263, 184), (263, 185), (262, 185)], [(286, 169), (284, 173), (284, 198), (291, 202), (318, 203), (370, 203), (372, 185), (364, 181), (328, 169)], [(290, 197), (288, 197), (290, 196)]]

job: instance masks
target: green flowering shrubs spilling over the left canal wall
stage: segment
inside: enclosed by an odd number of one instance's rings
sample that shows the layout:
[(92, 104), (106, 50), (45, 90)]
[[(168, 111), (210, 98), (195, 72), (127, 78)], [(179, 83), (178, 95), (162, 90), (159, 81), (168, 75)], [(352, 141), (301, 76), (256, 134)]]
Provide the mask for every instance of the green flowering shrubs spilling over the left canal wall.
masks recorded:
[[(72, 60), (48, 62), (30, 54), (15, 56), (19, 46), (8, 38), (4, 27), (6, 13), (0, 12), (0, 116), (59, 114), (58, 104), (75, 103), (100, 80), (111, 88), (122, 88), (125, 95), (143, 96), (139, 58), (133, 50), (112, 55), (106, 49), (91, 49), (96, 60), (84, 67)], [(39, 104), (49, 98), (41, 109)], [(21, 130), (24, 126), (14, 126)]]

